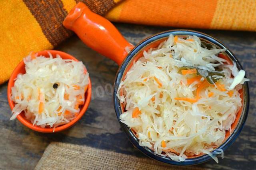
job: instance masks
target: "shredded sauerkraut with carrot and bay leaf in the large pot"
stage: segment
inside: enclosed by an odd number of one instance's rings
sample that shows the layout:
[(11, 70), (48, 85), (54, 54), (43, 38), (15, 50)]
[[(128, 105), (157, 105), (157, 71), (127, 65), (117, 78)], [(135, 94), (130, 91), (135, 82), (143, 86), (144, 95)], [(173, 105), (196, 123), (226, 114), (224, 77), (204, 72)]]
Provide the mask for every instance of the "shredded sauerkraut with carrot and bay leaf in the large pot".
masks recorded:
[[(217, 49), (196, 36), (173, 36), (144, 51), (121, 81), (120, 115), (158, 155), (174, 161), (211, 154), (220, 146), (241, 108), (244, 71), (228, 65)], [(223, 54), (222, 54), (223, 55)], [(222, 150), (218, 150), (223, 154)]]

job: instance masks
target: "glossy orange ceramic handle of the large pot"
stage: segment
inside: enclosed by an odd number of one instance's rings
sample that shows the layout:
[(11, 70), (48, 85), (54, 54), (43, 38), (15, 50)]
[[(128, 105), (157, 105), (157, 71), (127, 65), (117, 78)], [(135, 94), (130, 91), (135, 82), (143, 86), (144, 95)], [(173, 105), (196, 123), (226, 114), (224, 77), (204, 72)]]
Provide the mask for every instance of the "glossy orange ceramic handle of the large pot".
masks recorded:
[(118, 65), (134, 46), (124, 39), (106, 18), (93, 13), (82, 2), (69, 12), (63, 25), (74, 31), (88, 47), (114, 60)]

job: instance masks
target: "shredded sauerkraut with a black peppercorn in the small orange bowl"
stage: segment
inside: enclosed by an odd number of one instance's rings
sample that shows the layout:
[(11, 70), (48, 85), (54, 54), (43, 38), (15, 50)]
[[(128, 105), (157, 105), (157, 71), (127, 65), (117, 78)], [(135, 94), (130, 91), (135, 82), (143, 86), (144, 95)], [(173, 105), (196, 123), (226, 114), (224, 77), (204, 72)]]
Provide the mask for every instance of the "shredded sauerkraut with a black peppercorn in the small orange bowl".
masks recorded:
[(72, 121), (84, 104), (89, 74), (83, 63), (71, 59), (36, 56), (24, 58), (25, 74), (18, 74), (11, 88), (13, 120), (24, 111), (40, 127), (57, 127)]

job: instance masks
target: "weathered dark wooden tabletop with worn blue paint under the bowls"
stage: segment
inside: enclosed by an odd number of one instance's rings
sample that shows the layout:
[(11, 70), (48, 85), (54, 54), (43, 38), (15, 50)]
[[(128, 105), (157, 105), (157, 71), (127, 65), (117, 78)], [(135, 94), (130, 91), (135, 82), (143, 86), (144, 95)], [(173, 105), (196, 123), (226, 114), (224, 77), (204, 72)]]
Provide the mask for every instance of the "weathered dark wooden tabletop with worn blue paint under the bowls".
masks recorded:
[[(115, 24), (134, 45), (166, 27)], [(256, 33), (218, 30), (198, 30), (227, 45), (240, 59), (250, 78), (250, 111), (246, 124), (234, 144), (224, 152), (224, 159), (198, 166), (211, 169), (256, 169)], [(92, 100), (76, 125), (64, 132), (43, 134), (9, 121), (11, 110), (7, 101), (7, 83), (0, 86), (0, 169), (33, 169), (45, 148), (52, 141), (88, 145), (124, 154), (145, 157), (128, 141), (118, 123), (112, 102), (112, 87), (118, 65), (92, 51), (77, 36), (72, 36), (55, 48), (82, 61), (92, 81)], [(105, 88), (108, 88), (106, 91)]]

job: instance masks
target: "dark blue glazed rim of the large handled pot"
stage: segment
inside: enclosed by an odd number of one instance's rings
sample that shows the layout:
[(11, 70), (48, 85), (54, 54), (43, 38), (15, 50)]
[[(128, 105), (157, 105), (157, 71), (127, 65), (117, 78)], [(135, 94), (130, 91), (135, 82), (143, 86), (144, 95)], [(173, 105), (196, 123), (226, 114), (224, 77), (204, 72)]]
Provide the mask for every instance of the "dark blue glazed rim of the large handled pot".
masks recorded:
[[(118, 97), (116, 96), (116, 94), (118, 92), (118, 87), (120, 85), (120, 82), (122, 80), (124, 72), (126, 71), (127, 66), (132, 64), (131, 61), (132, 61), (133, 57), (136, 56), (136, 54), (138, 52), (143, 50), (144, 47), (146, 47), (147, 45), (155, 42), (156, 40), (167, 38), (170, 34), (179, 35), (179, 36), (182, 36), (182, 35), (193, 36), (194, 35), (194, 36), (198, 36), (200, 39), (204, 39), (208, 42), (211, 42), (211, 43), (217, 45), (220, 48), (226, 48), (227, 50), (225, 51), (225, 53), (227, 54), (227, 56), (232, 61), (236, 62), (238, 70), (242, 69), (242, 65), (240, 64), (240, 62), (238, 61), (236, 56), (231, 52), (231, 50), (228, 47), (226, 47), (224, 44), (222, 44), (221, 42), (219, 42), (218, 40), (216, 40), (215, 38), (213, 38), (213, 37), (211, 37), (207, 34), (204, 34), (204, 33), (201, 33), (201, 32), (196, 32), (196, 31), (193, 31), (193, 30), (169, 30), (169, 31), (166, 31), (166, 32), (160, 32), (156, 35), (153, 35), (153, 36), (143, 40), (138, 45), (136, 45), (136, 47), (134, 47), (134, 49), (132, 49), (132, 51), (130, 51), (130, 53), (126, 56), (126, 58), (122, 62), (121, 66), (118, 69), (118, 72), (116, 73), (116, 78), (115, 78), (115, 82), (114, 82), (114, 93), (113, 93), (114, 108), (115, 108), (115, 111), (116, 111), (116, 116), (118, 118), (118, 121), (119, 121), (122, 129), (124, 130), (126, 136), (128, 136), (128, 139), (130, 140), (130, 142), (132, 142), (132, 144), (136, 148), (138, 148), (142, 153), (146, 154), (146, 156), (149, 156), (150, 158), (153, 158), (153, 159), (158, 160), (160, 162), (164, 162), (164, 163), (172, 164), (172, 165), (186, 166), (186, 165), (201, 164), (203, 162), (211, 160), (212, 158), (209, 155), (204, 154), (202, 156), (197, 156), (197, 157), (194, 157), (194, 158), (188, 158), (184, 162), (176, 162), (174, 160), (171, 160), (168, 157), (164, 157), (164, 156), (160, 156), (160, 155), (155, 154), (154, 151), (152, 151), (150, 148), (140, 146), (138, 138), (127, 127), (127, 125), (125, 125), (124, 123), (122, 123), (120, 121), (120, 115), (122, 114), (122, 109), (121, 109), (120, 101), (119, 101)], [(228, 148), (231, 144), (234, 143), (234, 141), (236, 140), (236, 138), (238, 137), (238, 135), (242, 131), (242, 128), (244, 127), (244, 123), (245, 123), (247, 115), (248, 115), (249, 103), (250, 103), (249, 102), (249, 87), (248, 87), (247, 82), (244, 83), (243, 88), (244, 88), (244, 105), (243, 105), (243, 108), (242, 108), (242, 113), (241, 113), (241, 116), (240, 116), (240, 120), (239, 120), (237, 126), (234, 128), (234, 131), (232, 132), (232, 134), (224, 141), (224, 143), (222, 145), (220, 145), (216, 149), (226, 150), (226, 148)], [(217, 153), (216, 153), (217, 150), (216, 149), (214, 149), (211, 152), (214, 156), (217, 155)]]

